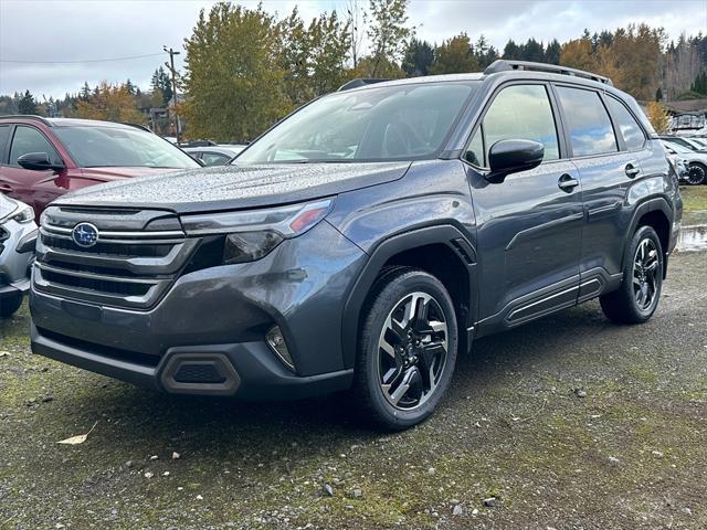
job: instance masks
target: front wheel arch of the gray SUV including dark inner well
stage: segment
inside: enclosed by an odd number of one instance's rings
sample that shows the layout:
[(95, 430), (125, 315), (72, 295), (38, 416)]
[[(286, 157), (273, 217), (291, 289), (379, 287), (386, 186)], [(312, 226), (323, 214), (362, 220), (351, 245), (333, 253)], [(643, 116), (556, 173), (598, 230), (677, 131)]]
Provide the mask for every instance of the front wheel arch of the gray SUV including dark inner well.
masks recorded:
[(421, 268), (442, 282), (454, 301), (463, 351), (469, 344), (476, 318), (476, 262), (474, 246), (452, 225), (418, 229), (379, 243), (346, 298), (341, 322), (344, 365), (355, 365), (361, 312), (376, 279), (388, 266)]

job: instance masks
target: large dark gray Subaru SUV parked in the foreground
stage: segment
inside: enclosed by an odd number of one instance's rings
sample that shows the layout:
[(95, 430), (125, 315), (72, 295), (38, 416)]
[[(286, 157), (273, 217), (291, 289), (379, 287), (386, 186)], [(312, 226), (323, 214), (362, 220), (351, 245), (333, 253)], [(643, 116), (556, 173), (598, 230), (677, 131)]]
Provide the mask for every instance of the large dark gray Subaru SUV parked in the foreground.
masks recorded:
[(404, 428), (476, 338), (597, 297), (650, 319), (680, 216), (663, 145), (606, 78), (498, 61), (361, 86), (231, 167), (56, 201), (32, 348), (173, 393), (351, 389)]

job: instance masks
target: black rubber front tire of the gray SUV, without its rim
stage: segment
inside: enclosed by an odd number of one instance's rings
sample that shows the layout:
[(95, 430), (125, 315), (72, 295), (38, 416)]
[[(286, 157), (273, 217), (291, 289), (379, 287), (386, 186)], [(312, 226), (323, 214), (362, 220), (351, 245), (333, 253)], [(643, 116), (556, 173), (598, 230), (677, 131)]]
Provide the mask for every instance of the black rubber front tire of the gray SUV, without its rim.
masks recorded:
[[(422, 271), (403, 269), (383, 278), (386, 284), (373, 299), (361, 337), (362, 351), (359, 369), (365, 371), (363, 390), (368, 394), (368, 403), (378, 416), (376, 420), (387, 428), (407, 428), (425, 420), (437, 406), (450, 385), (458, 348), (458, 329), (454, 305), (449, 293), (434, 276)], [(407, 295), (421, 292), (432, 296), (442, 308), (447, 324), (449, 348), (442, 379), (434, 393), (420, 407), (402, 411), (391, 405), (378, 381), (378, 341), (389, 312)]]

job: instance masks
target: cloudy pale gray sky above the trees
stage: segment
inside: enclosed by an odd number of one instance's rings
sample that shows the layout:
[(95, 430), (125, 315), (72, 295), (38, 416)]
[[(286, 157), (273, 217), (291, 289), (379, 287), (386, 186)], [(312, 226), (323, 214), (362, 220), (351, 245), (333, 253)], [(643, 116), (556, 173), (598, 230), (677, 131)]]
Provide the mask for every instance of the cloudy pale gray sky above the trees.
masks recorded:
[[(359, 2), (368, 3), (367, 0)], [(87, 81), (133, 80), (147, 88), (167, 59), (162, 45), (181, 49), (208, 0), (0, 0), (0, 94), (30, 89), (63, 97)], [(255, 1), (242, 1), (249, 7)], [(281, 15), (295, 4), (305, 19), (347, 0), (263, 0)], [(465, 31), (486, 35), (496, 47), (508, 39), (560, 41), (631, 22), (662, 25), (672, 38), (707, 28), (707, 0), (412, 0), (418, 35), (441, 42)], [(150, 55), (150, 56), (146, 56)], [(123, 57), (137, 57), (118, 60)], [(115, 61), (103, 61), (103, 60)], [(178, 62), (178, 65), (181, 63)]]

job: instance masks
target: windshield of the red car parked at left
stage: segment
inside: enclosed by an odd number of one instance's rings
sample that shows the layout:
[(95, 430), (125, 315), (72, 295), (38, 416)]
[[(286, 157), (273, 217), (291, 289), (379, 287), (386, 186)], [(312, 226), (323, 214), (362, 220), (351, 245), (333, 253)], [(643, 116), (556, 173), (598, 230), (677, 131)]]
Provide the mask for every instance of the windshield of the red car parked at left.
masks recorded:
[(146, 130), (124, 127), (56, 127), (53, 129), (82, 168), (199, 168), (169, 141)]

